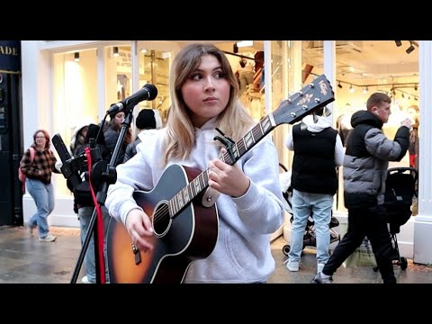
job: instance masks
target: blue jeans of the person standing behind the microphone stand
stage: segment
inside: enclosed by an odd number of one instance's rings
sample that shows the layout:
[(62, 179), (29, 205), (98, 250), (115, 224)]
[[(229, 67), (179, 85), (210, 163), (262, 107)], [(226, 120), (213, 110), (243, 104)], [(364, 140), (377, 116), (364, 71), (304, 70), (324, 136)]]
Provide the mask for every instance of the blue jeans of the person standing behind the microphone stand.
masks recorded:
[[(103, 220), (103, 259), (105, 260), (105, 278), (109, 281), (108, 276), (108, 263), (106, 262), (106, 234), (108, 232), (108, 224), (110, 223), (110, 214), (106, 207), (102, 206), (102, 220)], [(81, 244), (84, 244), (85, 236), (89, 229), (90, 220), (92, 219), (94, 207), (81, 207), (78, 209), (79, 224), (81, 226)], [(96, 220), (94, 220), (94, 228), (96, 227)], [(94, 237), (88, 243), (87, 250), (84, 257), (84, 266), (87, 279), (90, 283), (96, 283), (96, 263), (94, 259)]]

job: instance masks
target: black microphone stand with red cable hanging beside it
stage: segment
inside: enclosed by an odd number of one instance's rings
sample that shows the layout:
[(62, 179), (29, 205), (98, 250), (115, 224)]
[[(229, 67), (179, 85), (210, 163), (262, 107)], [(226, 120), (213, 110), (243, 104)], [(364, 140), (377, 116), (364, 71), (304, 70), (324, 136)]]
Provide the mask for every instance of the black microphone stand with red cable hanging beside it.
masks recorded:
[[(105, 116), (106, 118), (106, 116)], [(71, 279), (71, 284), (76, 284), (76, 279), (77, 276), (79, 275), (79, 271), (81, 269), (81, 266), (83, 264), (84, 261), (84, 257), (85, 257), (85, 253), (87, 251), (88, 245), (90, 243), (90, 239), (92, 238), (92, 234), (94, 235), (94, 259), (95, 259), (95, 270), (96, 270), (96, 284), (104, 284), (105, 283), (105, 274), (104, 271), (101, 271), (101, 269), (104, 269), (105, 265), (104, 265), (104, 257), (103, 257), (103, 246), (101, 246), (101, 242), (103, 242), (103, 239), (101, 240), (101, 236), (102, 238), (104, 238), (104, 233), (103, 233), (103, 228), (101, 226), (96, 226), (94, 227), (94, 223), (97, 217), (97, 210), (100, 210), (100, 207), (102, 205), (104, 205), (105, 201), (106, 201), (106, 195), (108, 192), (108, 186), (110, 184), (114, 184), (116, 179), (117, 179), (117, 175), (116, 175), (116, 171), (115, 171), (115, 164), (117, 161), (117, 158), (119, 156), (120, 153), (120, 149), (121, 149), (121, 145), (123, 143), (124, 137), (126, 135), (126, 131), (130, 128), (130, 123), (132, 121), (132, 110), (129, 109), (128, 111), (125, 112), (125, 118), (124, 120), (121, 122), (121, 132), (120, 135), (115, 143), (115, 148), (114, 151), (112, 152), (112, 157), (110, 160), (110, 163), (106, 166), (106, 171), (104, 173), (102, 173), (102, 175), (100, 176), (100, 179), (102, 180), (102, 184), (99, 186), (99, 190), (97, 192), (97, 194), (95, 195), (96, 201), (97, 201), (97, 205), (94, 207), (93, 210), (93, 214), (91, 217), (91, 220), (88, 224), (88, 229), (87, 229), (87, 233), (85, 235), (85, 240), (83, 242), (83, 247), (81, 248), (79, 257), (76, 261), (76, 266), (74, 269), (74, 273), (72, 275), (72, 279)], [(99, 131), (102, 131), (102, 127)], [(98, 134), (99, 136), (99, 134)], [(94, 178), (94, 175), (93, 175)], [(90, 174), (89, 176), (90, 179), (90, 183), (91, 183), (91, 179), (92, 179), (92, 174)], [(90, 185), (90, 188), (92, 189), (92, 186)], [(102, 215), (101, 215), (102, 216)], [(102, 224), (102, 217), (101, 217), (101, 222), (99, 224)], [(102, 230), (101, 230), (102, 229)], [(97, 244), (96, 244), (97, 242)], [(101, 251), (102, 251), (102, 257), (101, 257)], [(103, 272), (103, 277), (101, 278), (101, 272)]]

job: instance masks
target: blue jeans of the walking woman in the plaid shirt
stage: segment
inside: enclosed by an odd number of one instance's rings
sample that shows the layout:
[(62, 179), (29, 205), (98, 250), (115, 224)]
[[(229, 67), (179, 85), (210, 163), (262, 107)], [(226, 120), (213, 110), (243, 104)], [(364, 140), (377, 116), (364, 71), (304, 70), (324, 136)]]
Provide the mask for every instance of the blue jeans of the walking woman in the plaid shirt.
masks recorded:
[(44, 184), (40, 180), (27, 178), (25, 185), (31, 198), (36, 203), (38, 211), (31, 216), (29, 226), (38, 226), (39, 237), (45, 238), (49, 234), (47, 217), (54, 210), (54, 189), (52, 184)]

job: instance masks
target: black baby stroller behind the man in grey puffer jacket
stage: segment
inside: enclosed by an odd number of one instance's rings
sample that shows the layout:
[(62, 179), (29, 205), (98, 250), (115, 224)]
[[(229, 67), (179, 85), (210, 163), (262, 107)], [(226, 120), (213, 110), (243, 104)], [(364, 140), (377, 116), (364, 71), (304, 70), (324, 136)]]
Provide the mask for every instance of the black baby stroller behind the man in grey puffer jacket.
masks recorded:
[[(384, 206), (387, 213), (390, 238), (392, 239), (392, 261), (406, 270), (408, 261), (401, 257), (396, 234), (401, 226), (411, 217), (411, 204), (414, 196), (417, 197), (417, 180), (419, 173), (413, 167), (392, 167), (387, 170), (385, 181)], [(374, 270), (378, 270), (374, 267)]]

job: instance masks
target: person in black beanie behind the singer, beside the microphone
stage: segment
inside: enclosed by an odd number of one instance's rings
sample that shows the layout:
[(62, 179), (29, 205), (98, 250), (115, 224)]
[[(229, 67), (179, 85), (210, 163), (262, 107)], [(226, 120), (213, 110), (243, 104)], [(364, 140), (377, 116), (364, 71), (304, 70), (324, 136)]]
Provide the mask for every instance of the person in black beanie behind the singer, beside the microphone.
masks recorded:
[(128, 144), (124, 152), (123, 163), (128, 161), (131, 157), (137, 154), (137, 145), (141, 142), (139, 134), (142, 130), (158, 130), (162, 126), (162, 119), (160, 118), (159, 111), (152, 109), (143, 109), (139, 112), (135, 120), (135, 126), (139, 130), (137, 139)]

